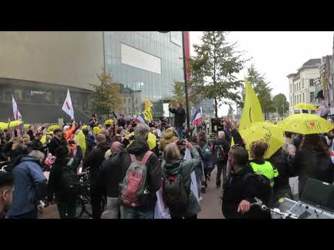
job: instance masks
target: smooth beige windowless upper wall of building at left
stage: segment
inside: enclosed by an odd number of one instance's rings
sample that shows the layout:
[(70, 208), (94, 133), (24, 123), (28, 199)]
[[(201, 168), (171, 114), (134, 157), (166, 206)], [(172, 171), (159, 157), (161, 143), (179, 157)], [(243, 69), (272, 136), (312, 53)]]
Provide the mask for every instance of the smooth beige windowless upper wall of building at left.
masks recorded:
[(0, 32), (0, 78), (90, 90), (102, 67), (102, 32)]

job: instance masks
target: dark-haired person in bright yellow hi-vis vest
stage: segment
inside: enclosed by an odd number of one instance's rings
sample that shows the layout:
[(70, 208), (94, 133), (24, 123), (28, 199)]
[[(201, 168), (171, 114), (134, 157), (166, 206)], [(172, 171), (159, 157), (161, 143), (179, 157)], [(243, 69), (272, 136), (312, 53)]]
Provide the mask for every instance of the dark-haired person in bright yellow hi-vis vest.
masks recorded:
[(250, 166), (256, 174), (262, 174), (269, 178), (271, 188), (275, 184), (274, 178), (278, 176), (278, 170), (269, 163), (269, 161), (264, 160), (263, 156), (268, 149), (268, 144), (266, 142), (257, 141), (250, 145)]

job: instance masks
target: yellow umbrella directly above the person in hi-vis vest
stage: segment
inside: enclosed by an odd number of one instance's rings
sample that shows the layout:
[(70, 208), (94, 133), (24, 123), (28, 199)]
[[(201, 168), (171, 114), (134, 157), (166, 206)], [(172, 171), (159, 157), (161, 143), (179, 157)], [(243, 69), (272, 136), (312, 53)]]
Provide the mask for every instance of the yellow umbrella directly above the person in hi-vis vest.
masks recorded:
[[(249, 128), (240, 131), (241, 137), (245, 140), (246, 149), (250, 155), (252, 142), (262, 140), (268, 144), (264, 158), (268, 159), (284, 144), (283, 129), (271, 122), (254, 122)], [(232, 142), (234, 144), (234, 142)]]

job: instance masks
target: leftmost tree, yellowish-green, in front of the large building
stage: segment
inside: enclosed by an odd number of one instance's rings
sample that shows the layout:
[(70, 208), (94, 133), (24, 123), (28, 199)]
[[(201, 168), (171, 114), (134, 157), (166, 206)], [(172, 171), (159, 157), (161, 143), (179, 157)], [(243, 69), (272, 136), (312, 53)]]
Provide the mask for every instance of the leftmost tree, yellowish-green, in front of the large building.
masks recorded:
[(122, 108), (122, 86), (113, 81), (111, 74), (106, 74), (104, 69), (102, 73), (97, 74), (97, 78), (100, 80), (100, 85), (90, 84), (93, 87), (94, 109), (97, 113), (109, 117), (112, 110), (118, 111)]

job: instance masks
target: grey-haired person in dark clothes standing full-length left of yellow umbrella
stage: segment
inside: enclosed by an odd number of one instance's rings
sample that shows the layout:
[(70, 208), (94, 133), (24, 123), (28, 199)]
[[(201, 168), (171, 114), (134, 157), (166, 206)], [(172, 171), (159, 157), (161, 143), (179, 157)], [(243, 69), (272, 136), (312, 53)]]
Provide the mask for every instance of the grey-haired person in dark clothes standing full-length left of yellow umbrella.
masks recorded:
[(221, 188), (221, 173), (223, 172), (223, 183), (227, 182), (227, 163), (228, 151), (230, 151), (230, 143), (225, 140), (225, 133), (218, 132), (218, 139), (213, 146), (214, 156), (217, 163), (216, 187)]

